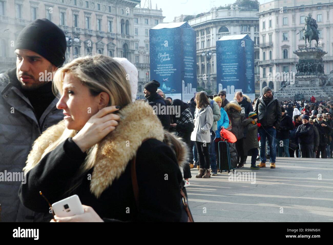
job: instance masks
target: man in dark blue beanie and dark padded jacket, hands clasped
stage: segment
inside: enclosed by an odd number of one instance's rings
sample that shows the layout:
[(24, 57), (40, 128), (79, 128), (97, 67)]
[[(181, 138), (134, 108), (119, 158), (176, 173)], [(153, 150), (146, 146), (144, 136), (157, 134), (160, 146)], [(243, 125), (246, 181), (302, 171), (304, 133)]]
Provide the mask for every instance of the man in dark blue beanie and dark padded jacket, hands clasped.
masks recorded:
[(299, 140), (301, 157), (311, 158), (313, 147), (313, 125), (309, 123), (309, 116), (303, 116), (303, 124), (296, 130), (296, 138)]

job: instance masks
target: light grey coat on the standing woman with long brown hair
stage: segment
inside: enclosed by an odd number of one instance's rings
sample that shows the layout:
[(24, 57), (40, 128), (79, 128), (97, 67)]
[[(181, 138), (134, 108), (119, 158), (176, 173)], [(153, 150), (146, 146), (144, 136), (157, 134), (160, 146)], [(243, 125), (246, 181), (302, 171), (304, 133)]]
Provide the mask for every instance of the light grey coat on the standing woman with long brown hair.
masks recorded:
[(210, 106), (203, 107), (194, 112), (194, 129), (191, 134), (192, 141), (210, 143), (210, 128), (213, 125), (213, 111)]

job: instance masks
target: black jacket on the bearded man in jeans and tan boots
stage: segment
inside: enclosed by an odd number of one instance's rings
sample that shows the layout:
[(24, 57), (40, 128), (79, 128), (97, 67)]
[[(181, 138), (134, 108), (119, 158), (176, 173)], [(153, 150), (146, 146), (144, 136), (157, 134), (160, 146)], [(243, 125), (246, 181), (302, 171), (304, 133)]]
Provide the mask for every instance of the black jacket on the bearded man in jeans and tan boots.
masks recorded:
[(278, 128), (281, 123), (281, 107), (278, 99), (273, 97), (272, 100), (265, 104), (263, 96), (259, 97), (254, 104), (254, 112), (258, 115), (258, 123), (264, 128)]

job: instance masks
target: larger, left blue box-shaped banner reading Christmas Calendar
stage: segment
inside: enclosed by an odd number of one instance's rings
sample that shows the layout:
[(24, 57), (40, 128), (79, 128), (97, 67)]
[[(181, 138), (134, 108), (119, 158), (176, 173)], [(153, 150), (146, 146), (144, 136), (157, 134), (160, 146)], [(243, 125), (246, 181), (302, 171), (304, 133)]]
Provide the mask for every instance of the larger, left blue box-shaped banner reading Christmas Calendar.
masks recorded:
[(163, 93), (187, 102), (196, 92), (196, 33), (187, 22), (149, 30), (151, 79)]

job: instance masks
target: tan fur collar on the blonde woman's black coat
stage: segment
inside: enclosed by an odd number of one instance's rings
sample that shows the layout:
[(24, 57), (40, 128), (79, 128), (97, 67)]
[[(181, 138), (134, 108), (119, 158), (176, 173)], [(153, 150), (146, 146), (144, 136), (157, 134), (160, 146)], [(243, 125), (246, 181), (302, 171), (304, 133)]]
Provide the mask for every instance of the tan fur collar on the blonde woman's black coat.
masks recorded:
[[(127, 164), (136, 156), (146, 139), (163, 141), (175, 153), (180, 167), (188, 164), (186, 144), (163, 129), (160, 120), (153, 114), (153, 108), (147, 102), (138, 100), (131, 103), (119, 111), (119, 116), (121, 120), (116, 129), (87, 151), (84, 162), (94, 167), (90, 191), (97, 198), (125, 172)], [(61, 121), (43, 132), (29, 153), (25, 172), (39, 163), (49, 142), (55, 142), (64, 130), (65, 123)], [(179, 144), (180, 147), (174, 147)]]

